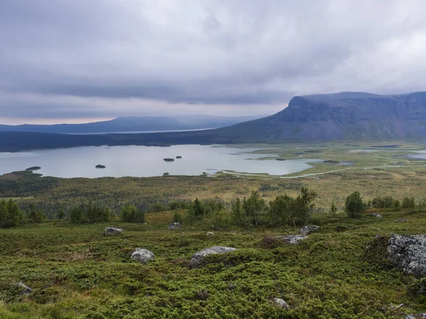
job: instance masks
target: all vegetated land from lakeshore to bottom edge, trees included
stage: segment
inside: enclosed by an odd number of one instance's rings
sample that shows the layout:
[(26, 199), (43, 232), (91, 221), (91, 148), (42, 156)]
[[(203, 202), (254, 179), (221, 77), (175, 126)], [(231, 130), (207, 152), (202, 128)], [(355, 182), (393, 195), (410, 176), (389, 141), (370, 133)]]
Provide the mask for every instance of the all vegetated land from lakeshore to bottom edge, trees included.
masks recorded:
[[(325, 164), (318, 165), (313, 172)], [(425, 181), (417, 165), (293, 179), (7, 174), (0, 177), (0, 318), (422, 313), (425, 278), (394, 267), (386, 242), (391, 233), (426, 232)], [(168, 230), (172, 222), (182, 228)], [(297, 245), (280, 240), (303, 225), (320, 228)], [(107, 227), (123, 233), (102, 236)], [(190, 267), (192, 254), (213, 246), (236, 250)], [(131, 259), (138, 248), (155, 259)]]

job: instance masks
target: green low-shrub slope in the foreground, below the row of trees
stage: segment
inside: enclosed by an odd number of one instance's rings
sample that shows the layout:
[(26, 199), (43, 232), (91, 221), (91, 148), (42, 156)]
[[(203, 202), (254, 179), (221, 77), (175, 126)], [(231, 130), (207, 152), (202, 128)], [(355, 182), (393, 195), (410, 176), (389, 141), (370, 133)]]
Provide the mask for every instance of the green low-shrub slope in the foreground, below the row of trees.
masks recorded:
[[(216, 232), (209, 222), (166, 230), (171, 213), (148, 214), (148, 225), (111, 222), (73, 226), (50, 222), (1, 230), (2, 318), (400, 318), (422, 309), (424, 297), (410, 293), (413, 276), (364, 259), (377, 233), (425, 233), (425, 214), (383, 213), (383, 220), (316, 216), (320, 233), (297, 246), (261, 245), (279, 230)], [(407, 223), (395, 223), (406, 217)], [(107, 225), (124, 235), (102, 237)], [(337, 233), (337, 225), (349, 230)], [(229, 245), (238, 251), (216, 256), (200, 269), (187, 264), (197, 250)], [(155, 253), (140, 264), (136, 247)], [(23, 297), (10, 289), (23, 281), (34, 289)], [(229, 289), (235, 284), (235, 289)], [(280, 310), (271, 298), (285, 299)], [(389, 304), (405, 303), (401, 310)], [(7, 315), (5, 315), (7, 314)], [(10, 315), (10, 316), (9, 316)], [(8, 317), (9, 316), (9, 317)]]

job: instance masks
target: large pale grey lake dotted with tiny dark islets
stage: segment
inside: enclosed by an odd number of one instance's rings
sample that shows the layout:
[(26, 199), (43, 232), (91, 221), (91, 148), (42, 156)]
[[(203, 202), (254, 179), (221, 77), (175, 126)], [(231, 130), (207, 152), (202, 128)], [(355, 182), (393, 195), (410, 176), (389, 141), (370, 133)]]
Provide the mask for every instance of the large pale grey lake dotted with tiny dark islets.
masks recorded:
[[(271, 154), (253, 154), (258, 148), (236, 148), (211, 145), (89, 146), (29, 152), (0, 152), (0, 174), (40, 166), (35, 171), (53, 177), (155, 177), (171, 175), (213, 174), (218, 171), (285, 175), (312, 167), (315, 159), (261, 159)], [(175, 157), (182, 156), (182, 159)], [(165, 162), (165, 157), (174, 162)], [(97, 164), (105, 165), (97, 169)]]

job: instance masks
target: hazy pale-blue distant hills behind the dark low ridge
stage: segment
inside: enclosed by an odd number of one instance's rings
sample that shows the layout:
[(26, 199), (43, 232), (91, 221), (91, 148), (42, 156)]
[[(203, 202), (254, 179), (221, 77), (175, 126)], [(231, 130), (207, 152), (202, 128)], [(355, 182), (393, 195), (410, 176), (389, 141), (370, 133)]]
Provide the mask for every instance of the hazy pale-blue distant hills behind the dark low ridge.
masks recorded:
[(38, 132), (60, 134), (119, 133), (158, 130), (194, 130), (222, 128), (262, 116), (129, 116), (84, 124), (0, 125), (0, 132)]

